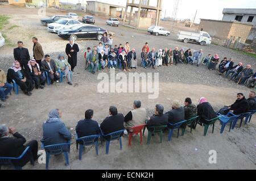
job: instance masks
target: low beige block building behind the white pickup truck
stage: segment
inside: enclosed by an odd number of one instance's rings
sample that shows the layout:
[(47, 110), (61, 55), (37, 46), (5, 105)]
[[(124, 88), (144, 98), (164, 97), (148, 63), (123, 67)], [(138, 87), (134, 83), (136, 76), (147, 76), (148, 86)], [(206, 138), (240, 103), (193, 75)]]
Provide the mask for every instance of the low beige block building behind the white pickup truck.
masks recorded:
[(226, 40), (233, 37), (233, 40), (240, 39), (245, 43), (253, 25), (241, 22), (223, 20), (201, 19), (199, 29), (209, 33), (213, 38)]

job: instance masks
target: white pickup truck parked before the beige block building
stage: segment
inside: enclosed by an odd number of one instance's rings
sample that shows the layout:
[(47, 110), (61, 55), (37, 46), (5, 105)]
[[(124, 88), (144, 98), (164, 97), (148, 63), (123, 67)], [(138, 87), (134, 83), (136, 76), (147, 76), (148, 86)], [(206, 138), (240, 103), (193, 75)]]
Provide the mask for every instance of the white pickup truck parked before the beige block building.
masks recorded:
[(197, 32), (189, 32), (189, 31), (180, 31), (177, 34), (177, 39), (182, 40), (184, 43), (188, 43), (188, 41), (194, 41), (199, 43), (200, 45), (206, 45), (212, 43), (212, 38), (208, 34), (208, 32), (200, 31)]

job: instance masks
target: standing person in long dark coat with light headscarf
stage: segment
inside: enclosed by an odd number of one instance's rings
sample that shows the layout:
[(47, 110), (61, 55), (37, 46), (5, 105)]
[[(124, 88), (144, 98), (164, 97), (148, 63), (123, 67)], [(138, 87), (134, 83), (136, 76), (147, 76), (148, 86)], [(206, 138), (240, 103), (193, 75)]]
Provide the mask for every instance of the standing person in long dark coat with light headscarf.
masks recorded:
[(74, 71), (77, 65), (77, 52), (79, 52), (79, 46), (74, 43), (73, 39), (69, 39), (65, 52), (68, 56), (68, 63), (71, 65), (71, 71)]

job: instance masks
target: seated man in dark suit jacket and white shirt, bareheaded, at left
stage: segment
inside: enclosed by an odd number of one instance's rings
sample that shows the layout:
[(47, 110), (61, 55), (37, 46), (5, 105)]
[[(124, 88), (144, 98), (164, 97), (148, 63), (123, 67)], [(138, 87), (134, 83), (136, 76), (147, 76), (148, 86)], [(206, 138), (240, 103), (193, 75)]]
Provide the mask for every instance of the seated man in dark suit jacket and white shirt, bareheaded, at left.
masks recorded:
[(44, 56), (42, 67), (44, 71), (47, 71), (48, 76), (51, 78), (51, 84), (53, 84), (54, 81), (57, 82), (60, 79), (60, 74), (58, 73), (55, 61), (51, 60), (51, 57), (48, 54)]

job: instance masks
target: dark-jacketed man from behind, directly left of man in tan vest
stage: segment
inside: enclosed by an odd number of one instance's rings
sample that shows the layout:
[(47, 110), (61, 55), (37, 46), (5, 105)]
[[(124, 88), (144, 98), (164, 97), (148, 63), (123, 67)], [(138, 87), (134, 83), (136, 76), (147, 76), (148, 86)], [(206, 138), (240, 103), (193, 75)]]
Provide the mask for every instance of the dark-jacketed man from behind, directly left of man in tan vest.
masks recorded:
[[(123, 123), (125, 121), (125, 117), (117, 112), (117, 108), (114, 106), (110, 106), (109, 108), (109, 117), (106, 117), (104, 121), (101, 123), (101, 131), (104, 133), (104, 135), (121, 131), (122, 129), (125, 129), (123, 126)], [(121, 136), (123, 133), (121, 134)], [(110, 137), (104, 137), (106, 140), (109, 140)]]

